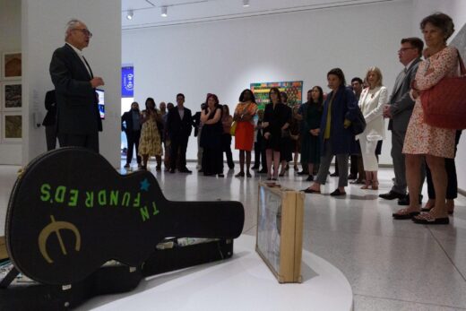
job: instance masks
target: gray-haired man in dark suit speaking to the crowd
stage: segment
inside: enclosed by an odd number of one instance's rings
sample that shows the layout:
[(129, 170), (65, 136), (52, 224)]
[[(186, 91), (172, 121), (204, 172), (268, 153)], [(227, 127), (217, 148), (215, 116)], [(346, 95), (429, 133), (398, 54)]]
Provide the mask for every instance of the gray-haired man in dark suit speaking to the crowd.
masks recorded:
[(57, 48), (50, 62), (50, 76), (55, 85), (57, 131), (60, 146), (78, 146), (99, 152), (98, 97), (95, 89), (104, 85), (94, 77), (82, 49), (87, 48), (91, 31), (79, 20), (66, 24), (65, 45)]

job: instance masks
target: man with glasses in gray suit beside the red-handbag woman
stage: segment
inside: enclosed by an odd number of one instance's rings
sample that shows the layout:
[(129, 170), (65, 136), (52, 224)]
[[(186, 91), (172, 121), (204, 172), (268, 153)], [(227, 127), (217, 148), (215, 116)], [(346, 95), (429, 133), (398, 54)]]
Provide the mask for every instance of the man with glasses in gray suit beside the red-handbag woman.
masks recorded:
[(392, 159), (395, 174), (392, 190), (387, 194), (379, 194), (379, 197), (386, 200), (406, 199), (406, 169), (404, 154), (401, 151), (414, 108), (414, 100), (410, 98), (411, 82), (416, 77), (423, 48), (424, 43), (419, 38), (401, 39), (398, 56), (404, 69), (398, 74), (389, 103), (384, 107), (384, 117), (390, 118), (388, 129), (392, 131)]

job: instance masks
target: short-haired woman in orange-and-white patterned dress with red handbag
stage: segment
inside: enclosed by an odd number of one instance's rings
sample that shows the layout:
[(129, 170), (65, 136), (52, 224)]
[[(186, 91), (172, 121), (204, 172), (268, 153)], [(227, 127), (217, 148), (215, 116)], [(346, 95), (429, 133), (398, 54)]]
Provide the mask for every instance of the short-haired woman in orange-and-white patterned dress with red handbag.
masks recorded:
[[(448, 213), (445, 205), (447, 178), (444, 158), (454, 158), (456, 131), (424, 123), (420, 94), (435, 86), (444, 77), (458, 75), (458, 52), (456, 48), (446, 46), (446, 40), (454, 31), (450, 16), (444, 13), (429, 15), (422, 20), (420, 27), (430, 56), (419, 64), (416, 80), (410, 91), (410, 96), (416, 99), (416, 104), (403, 145), (403, 153), (406, 154), (406, 177), (410, 190), (410, 206), (394, 213), (393, 216), (411, 215), (412, 220), (420, 224), (448, 224)], [(419, 214), (419, 168), (423, 157), (426, 158), (432, 173), (436, 190), (436, 206), (430, 212)]]

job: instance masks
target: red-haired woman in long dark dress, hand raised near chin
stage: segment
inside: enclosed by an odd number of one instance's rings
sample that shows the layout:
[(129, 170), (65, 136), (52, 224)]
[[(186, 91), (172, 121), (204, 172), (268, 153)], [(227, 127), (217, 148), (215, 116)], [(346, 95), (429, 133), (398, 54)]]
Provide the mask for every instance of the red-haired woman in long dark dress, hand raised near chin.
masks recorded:
[(207, 107), (201, 113), (203, 131), (201, 132), (201, 147), (203, 147), (203, 174), (204, 176), (223, 177), (223, 151), (221, 135), (221, 108), (219, 99), (215, 94), (209, 94), (206, 100)]

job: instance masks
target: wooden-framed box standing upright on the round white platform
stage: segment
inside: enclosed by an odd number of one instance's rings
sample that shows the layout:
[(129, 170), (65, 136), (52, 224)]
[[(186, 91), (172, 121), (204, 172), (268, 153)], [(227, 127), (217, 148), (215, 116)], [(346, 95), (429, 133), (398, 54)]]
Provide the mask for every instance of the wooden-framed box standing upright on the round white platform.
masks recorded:
[(305, 195), (259, 183), (256, 252), (280, 283), (301, 282)]

